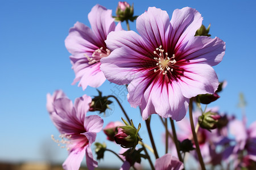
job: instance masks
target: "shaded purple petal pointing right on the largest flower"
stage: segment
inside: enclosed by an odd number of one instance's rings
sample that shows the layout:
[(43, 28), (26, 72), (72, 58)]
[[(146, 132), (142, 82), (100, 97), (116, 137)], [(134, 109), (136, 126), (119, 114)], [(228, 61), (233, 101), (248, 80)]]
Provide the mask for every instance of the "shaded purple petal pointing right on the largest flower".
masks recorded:
[(214, 66), (222, 61), (225, 49), (225, 42), (218, 37), (212, 39), (206, 36), (196, 36), (175, 49), (175, 55), (179, 60), (185, 59), (189, 63), (207, 63)]

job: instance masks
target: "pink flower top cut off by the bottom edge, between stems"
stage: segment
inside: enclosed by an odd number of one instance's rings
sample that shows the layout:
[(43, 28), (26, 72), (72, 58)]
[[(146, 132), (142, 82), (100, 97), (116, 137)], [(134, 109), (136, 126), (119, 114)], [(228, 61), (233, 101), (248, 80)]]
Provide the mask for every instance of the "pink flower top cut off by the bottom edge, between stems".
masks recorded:
[(155, 161), (155, 170), (181, 170), (184, 169), (184, 165), (179, 159), (175, 158), (171, 154), (166, 154)]

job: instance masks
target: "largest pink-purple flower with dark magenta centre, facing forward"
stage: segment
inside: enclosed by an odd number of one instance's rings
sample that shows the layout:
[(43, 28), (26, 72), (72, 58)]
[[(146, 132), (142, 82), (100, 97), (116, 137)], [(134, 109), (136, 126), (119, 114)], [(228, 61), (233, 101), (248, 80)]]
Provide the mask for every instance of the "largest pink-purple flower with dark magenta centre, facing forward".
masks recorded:
[(101, 70), (116, 84), (129, 84), (132, 107), (142, 118), (150, 114), (179, 121), (188, 101), (199, 94), (214, 94), (218, 79), (211, 66), (224, 56), (225, 42), (215, 37), (194, 36), (203, 18), (195, 9), (177, 9), (170, 22), (166, 11), (149, 7), (137, 19), (137, 31), (108, 35), (112, 53), (101, 59)]

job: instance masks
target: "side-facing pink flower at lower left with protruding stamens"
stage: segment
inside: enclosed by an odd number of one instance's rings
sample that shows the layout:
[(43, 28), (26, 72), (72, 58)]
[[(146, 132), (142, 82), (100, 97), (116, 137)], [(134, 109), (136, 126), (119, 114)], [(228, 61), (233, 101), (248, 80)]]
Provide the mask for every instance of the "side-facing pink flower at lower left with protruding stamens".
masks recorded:
[[(47, 95), (47, 106), (52, 106), (50, 113), (51, 120), (60, 131), (61, 141), (55, 142), (66, 145), (69, 155), (63, 163), (64, 169), (79, 169), (84, 155), (88, 169), (97, 167), (96, 160), (93, 159), (90, 146), (95, 141), (96, 133), (103, 126), (103, 120), (96, 115), (86, 116), (89, 104), (92, 99), (89, 96), (82, 96), (75, 100), (74, 105), (62, 91), (56, 91), (52, 96)], [(48, 111), (52, 111), (47, 107)], [(64, 140), (67, 138), (68, 140)]]

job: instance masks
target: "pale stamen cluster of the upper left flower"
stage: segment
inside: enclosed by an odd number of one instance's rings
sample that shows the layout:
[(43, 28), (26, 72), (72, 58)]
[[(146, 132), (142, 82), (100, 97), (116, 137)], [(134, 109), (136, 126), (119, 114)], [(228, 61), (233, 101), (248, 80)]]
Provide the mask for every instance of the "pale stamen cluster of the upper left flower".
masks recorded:
[(96, 49), (93, 54), (92, 57), (87, 56), (86, 54), (84, 54), (84, 56), (88, 59), (88, 63), (89, 64), (93, 64), (96, 62), (100, 62), (101, 58), (103, 57), (108, 57), (110, 54), (110, 50), (106, 48), (106, 50), (103, 49), (103, 47)]

